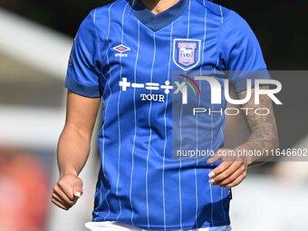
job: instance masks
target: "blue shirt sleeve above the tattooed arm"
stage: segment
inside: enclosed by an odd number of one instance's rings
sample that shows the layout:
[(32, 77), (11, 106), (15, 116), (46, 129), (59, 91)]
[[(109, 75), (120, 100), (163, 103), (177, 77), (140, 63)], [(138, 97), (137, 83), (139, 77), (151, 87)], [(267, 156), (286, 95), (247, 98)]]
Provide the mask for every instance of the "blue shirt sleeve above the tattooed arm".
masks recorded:
[(230, 11), (219, 37), (221, 58), (236, 92), (246, 89), (246, 80), (270, 79), (263, 53), (254, 32), (245, 20)]

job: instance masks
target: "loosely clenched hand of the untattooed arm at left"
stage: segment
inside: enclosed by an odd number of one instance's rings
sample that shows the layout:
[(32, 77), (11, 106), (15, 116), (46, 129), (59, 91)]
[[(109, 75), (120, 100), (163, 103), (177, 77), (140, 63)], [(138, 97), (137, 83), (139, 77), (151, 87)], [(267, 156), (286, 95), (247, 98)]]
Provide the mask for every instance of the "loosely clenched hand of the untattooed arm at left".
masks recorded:
[(65, 175), (53, 187), (53, 204), (69, 210), (82, 197), (82, 179), (75, 175)]

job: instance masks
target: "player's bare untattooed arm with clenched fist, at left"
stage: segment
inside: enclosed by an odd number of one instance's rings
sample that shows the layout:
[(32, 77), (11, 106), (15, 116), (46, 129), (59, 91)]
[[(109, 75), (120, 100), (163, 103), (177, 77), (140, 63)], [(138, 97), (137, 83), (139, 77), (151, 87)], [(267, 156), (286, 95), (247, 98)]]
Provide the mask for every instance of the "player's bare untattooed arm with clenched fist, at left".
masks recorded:
[(82, 195), (82, 171), (90, 153), (91, 134), (101, 98), (67, 95), (66, 121), (58, 142), (59, 181), (53, 187), (53, 204), (68, 210)]

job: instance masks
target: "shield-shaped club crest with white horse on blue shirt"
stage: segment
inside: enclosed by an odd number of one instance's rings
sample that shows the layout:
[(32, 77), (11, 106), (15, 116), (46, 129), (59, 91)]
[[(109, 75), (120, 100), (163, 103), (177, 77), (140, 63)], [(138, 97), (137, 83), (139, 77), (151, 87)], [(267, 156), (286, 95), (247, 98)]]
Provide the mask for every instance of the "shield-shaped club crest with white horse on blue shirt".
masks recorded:
[(201, 41), (196, 39), (175, 39), (173, 41), (173, 62), (188, 71), (200, 61)]

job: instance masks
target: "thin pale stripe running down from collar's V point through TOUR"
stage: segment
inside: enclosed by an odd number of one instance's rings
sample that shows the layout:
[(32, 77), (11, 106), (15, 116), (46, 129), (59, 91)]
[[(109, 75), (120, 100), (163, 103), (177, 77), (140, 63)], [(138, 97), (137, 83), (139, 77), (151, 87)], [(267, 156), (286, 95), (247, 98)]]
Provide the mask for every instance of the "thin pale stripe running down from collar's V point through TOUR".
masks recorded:
[[(153, 69), (156, 59), (156, 33), (153, 33), (153, 41), (154, 41), (154, 55), (153, 55), (153, 61), (152, 61), (152, 67), (150, 71), (150, 80), (149, 82), (153, 82)], [(150, 90), (150, 93), (152, 91)], [(147, 153), (147, 170), (146, 170), (146, 197), (147, 197), (147, 221), (148, 221), (148, 229), (149, 229), (149, 184), (148, 184), (148, 175), (149, 175), (149, 149), (150, 149), (150, 140), (152, 139), (152, 129), (151, 129), (151, 123), (150, 123), (150, 114), (152, 109), (152, 101), (149, 102), (149, 147), (148, 147), (148, 153)]]

